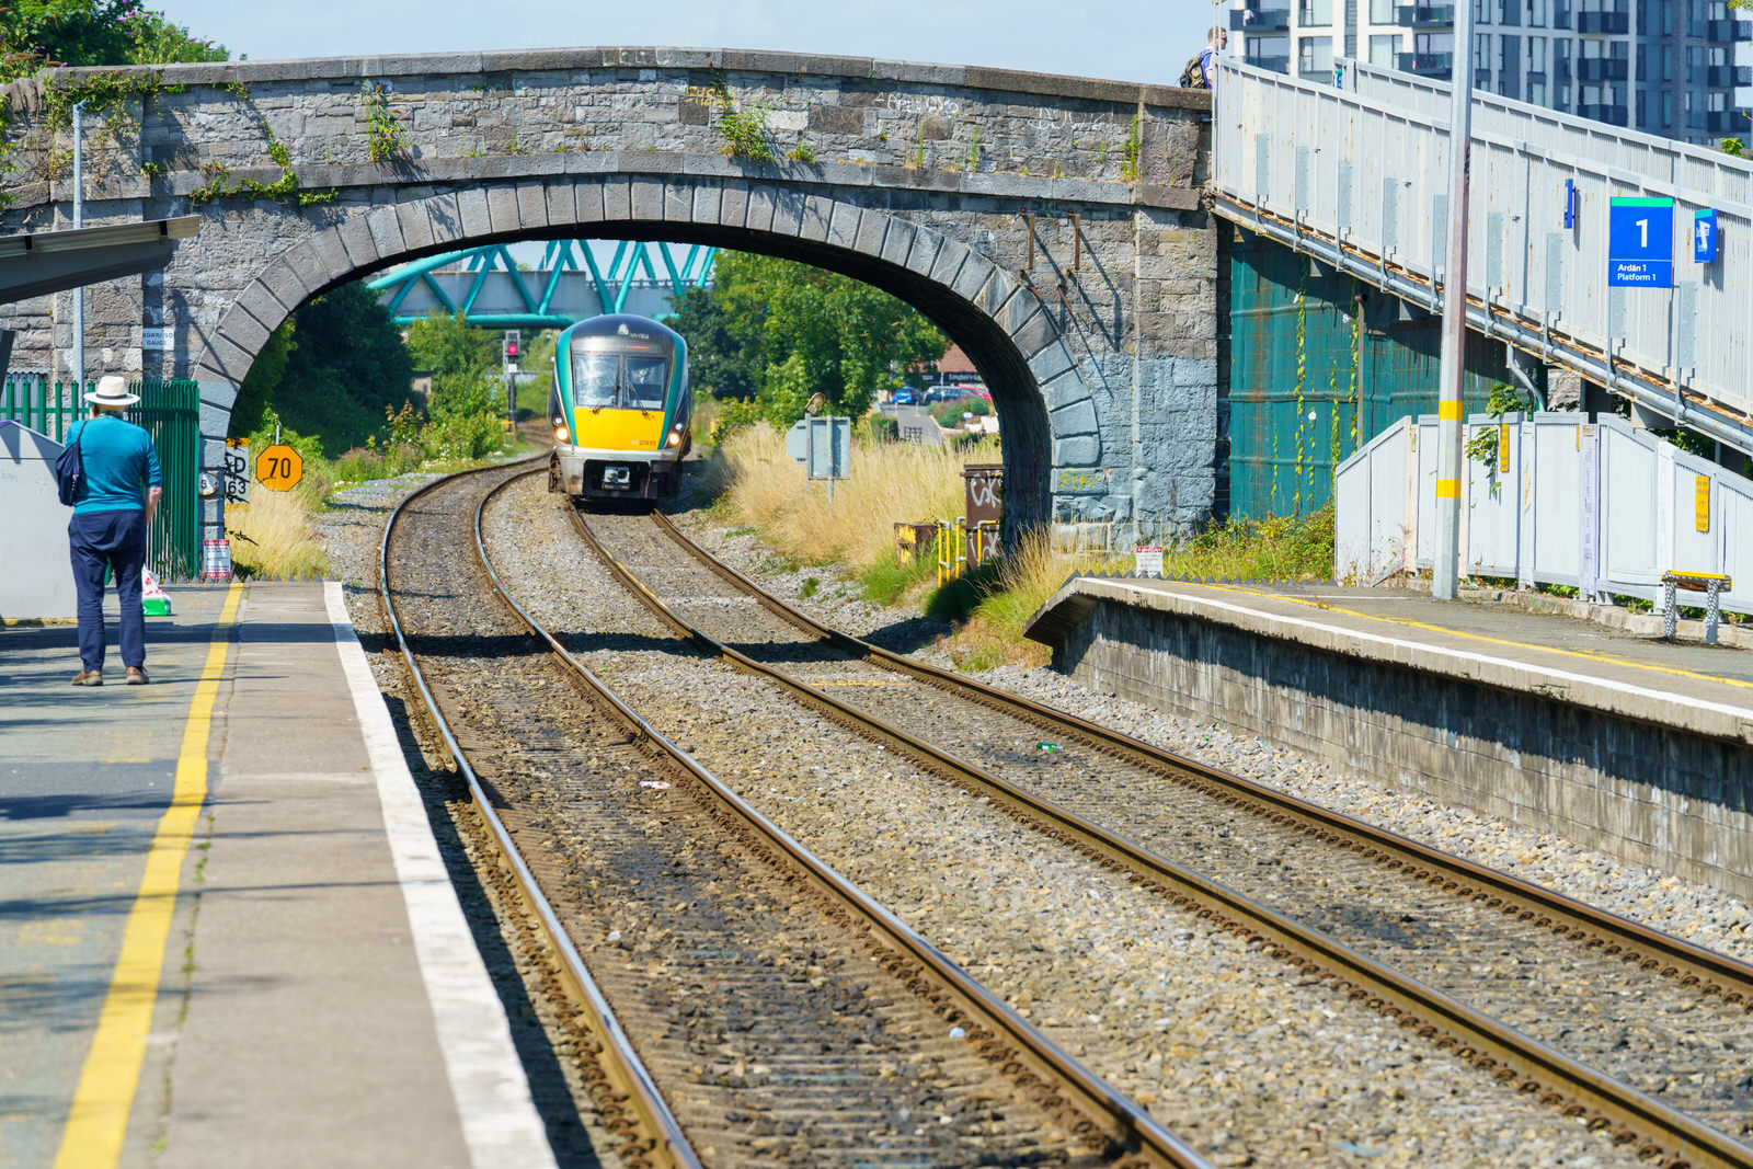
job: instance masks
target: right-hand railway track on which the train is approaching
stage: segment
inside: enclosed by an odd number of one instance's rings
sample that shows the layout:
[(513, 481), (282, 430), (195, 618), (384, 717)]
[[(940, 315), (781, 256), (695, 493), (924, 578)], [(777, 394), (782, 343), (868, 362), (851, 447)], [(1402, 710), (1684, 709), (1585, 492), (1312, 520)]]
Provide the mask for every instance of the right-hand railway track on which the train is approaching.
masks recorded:
[[(1753, 1164), (1742, 1143), (1753, 1132), (1744, 964), (847, 638), (661, 515), (573, 521), (701, 650), (1003, 801), (1643, 1155)], [(1036, 750), (1048, 740), (1059, 750)]]

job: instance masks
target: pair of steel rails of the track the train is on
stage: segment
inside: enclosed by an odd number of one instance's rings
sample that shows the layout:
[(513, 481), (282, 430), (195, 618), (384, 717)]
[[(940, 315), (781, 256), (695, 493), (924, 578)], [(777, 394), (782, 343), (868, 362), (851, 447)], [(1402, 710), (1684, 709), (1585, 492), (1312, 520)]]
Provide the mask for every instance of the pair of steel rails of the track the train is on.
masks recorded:
[[(1427, 845), (1387, 832), (1374, 825), (1338, 815), (1318, 804), (1301, 801), (1250, 780), (1206, 768), (1190, 759), (1141, 743), (1131, 736), (1090, 724), (1085, 719), (1052, 710), (1029, 699), (1020, 699), (978, 682), (959, 678), (934, 666), (913, 662), (889, 650), (847, 636), (810, 619), (778, 601), (770, 592), (729, 568), (710, 552), (689, 540), (668, 517), (654, 512), (654, 521), (677, 543), (687, 549), (703, 566), (743, 589), (759, 605), (815, 633), (836, 647), (917, 678), (957, 689), (983, 705), (1026, 717), (1038, 726), (1073, 736), (1090, 747), (1110, 750), (1145, 766), (1190, 775), (1227, 799), (1257, 806), (1266, 815), (1299, 824), (1320, 840), (1331, 840), (1341, 848), (1355, 848), (1367, 859), (1409, 871), (1413, 876), (1441, 885), (1457, 896), (1501, 904), (1506, 911), (1534, 920), (1553, 932), (1574, 932), (1583, 945), (1599, 945), (1606, 953), (1639, 964), (1651, 973), (1678, 978), (1683, 985), (1699, 985), (1707, 994), (1721, 994), (1728, 1003), (1753, 1004), (1753, 966), (1739, 962), (1702, 946), (1629, 922), (1604, 910), (1572, 901), (1562, 894), (1541, 889), (1506, 873), (1487, 869), (1471, 861), (1451, 857)], [(1451, 1043), (1473, 1059), (1476, 1066), (1494, 1071), (1499, 1078), (1520, 1078), (1523, 1090), (1541, 1092), (1569, 1109), (1581, 1109), (1595, 1125), (1622, 1125), (1620, 1134), (1643, 1136), (1648, 1148), (1669, 1153), (1674, 1165), (1704, 1165), (1746, 1169), (1753, 1165), (1753, 1148), (1718, 1132), (1667, 1104), (1623, 1085), (1600, 1071), (1564, 1055), (1513, 1027), (1455, 1001), (1441, 990), (1425, 987), (1399, 971), (1357, 953), (1339, 941), (1325, 938), (1217, 882), (1176, 866), (1148, 848), (1120, 838), (1069, 811), (1038, 799), (1008, 782), (971, 766), (917, 736), (875, 720), (831, 694), (796, 682), (784, 673), (756, 662), (731, 647), (722, 647), (710, 636), (675, 615), (663, 601), (638, 582), (631, 571), (619, 566), (594, 540), (582, 519), (577, 521), (586, 540), (598, 549), (610, 570), (622, 578), (654, 613), (682, 631), (701, 647), (712, 647), (740, 668), (771, 678), (808, 705), (838, 720), (906, 750), (924, 766), (948, 775), (955, 782), (1018, 808), (1024, 818), (1040, 820), (1052, 831), (1075, 840), (1094, 855), (1104, 857), (1117, 869), (1141, 875), (1148, 883), (1167, 889), (1175, 897), (1204, 906), (1246, 939), (1271, 946), (1280, 955), (1301, 955), (1306, 962), (1336, 978), (1339, 988), (1367, 997), (1381, 1010), (1401, 1015), (1402, 1022), (1416, 1020), (1422, 1032), (1439, 1043)], [(1432, 1034), (1443, 1032), (1443, 1034)]]

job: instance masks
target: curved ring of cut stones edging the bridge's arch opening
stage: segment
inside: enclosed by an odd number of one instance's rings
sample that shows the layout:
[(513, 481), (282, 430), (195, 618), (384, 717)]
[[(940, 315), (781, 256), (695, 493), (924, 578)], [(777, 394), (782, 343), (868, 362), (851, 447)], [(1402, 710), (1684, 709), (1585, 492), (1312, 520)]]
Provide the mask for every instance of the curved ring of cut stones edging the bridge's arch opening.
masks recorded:
[(272, 256), (219, 317), (195, 361), (205, 400), (230, 410), (298, 305), (426, 254), (549, 238), (650, 238), (764, 252), (880, 287), (938, 322), (969, 354), (1003, 424), (1006, 501), (1017, 524), (1050, 517), (1050, 466), (1097, 466), (1096, 405), (1043, 298), (940, 231), (843, 193), (778, 182), (640, 174), (484, 184), (377, 207), (314, 230)]

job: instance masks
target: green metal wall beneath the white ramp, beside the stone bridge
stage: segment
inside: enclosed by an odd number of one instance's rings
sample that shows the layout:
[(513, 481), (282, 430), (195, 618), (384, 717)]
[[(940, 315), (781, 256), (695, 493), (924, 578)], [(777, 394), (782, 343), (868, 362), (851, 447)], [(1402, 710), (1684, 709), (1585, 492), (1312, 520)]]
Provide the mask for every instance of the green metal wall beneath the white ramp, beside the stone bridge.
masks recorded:
[[(1229, 251), (1231, 515), (1302, 515), (1332, 470), (1409, 414), (1436, 414), (1441, 321), (1397, 321), (1387, 293), (1243, 228)], [(1467, 335), (1467, 412), (1509, 380), (1504, 347)]]

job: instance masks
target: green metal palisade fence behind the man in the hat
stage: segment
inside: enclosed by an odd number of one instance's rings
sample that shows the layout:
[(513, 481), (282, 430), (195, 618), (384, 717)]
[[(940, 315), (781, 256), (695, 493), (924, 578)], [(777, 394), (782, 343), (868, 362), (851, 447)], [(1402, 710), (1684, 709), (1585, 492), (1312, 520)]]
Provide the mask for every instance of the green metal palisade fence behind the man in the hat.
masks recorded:
[[(86, 389), (93, 389), (88, 382)], [(147, 533), (147, 566), (165, 580), (186, 580), (200, 573), (200, 473), (202, 473), (202, 400), (196, 382), (130, 382), (128, 391), (140, 401), (128, 410), (128, 421), (145, 428), (158, 450), (165, 494)], [(0, 386), (0, 419), (67, 442), (74, 422), (89, 414), (75, 382), (51, 382), (46, 377), (9, 377)]]

